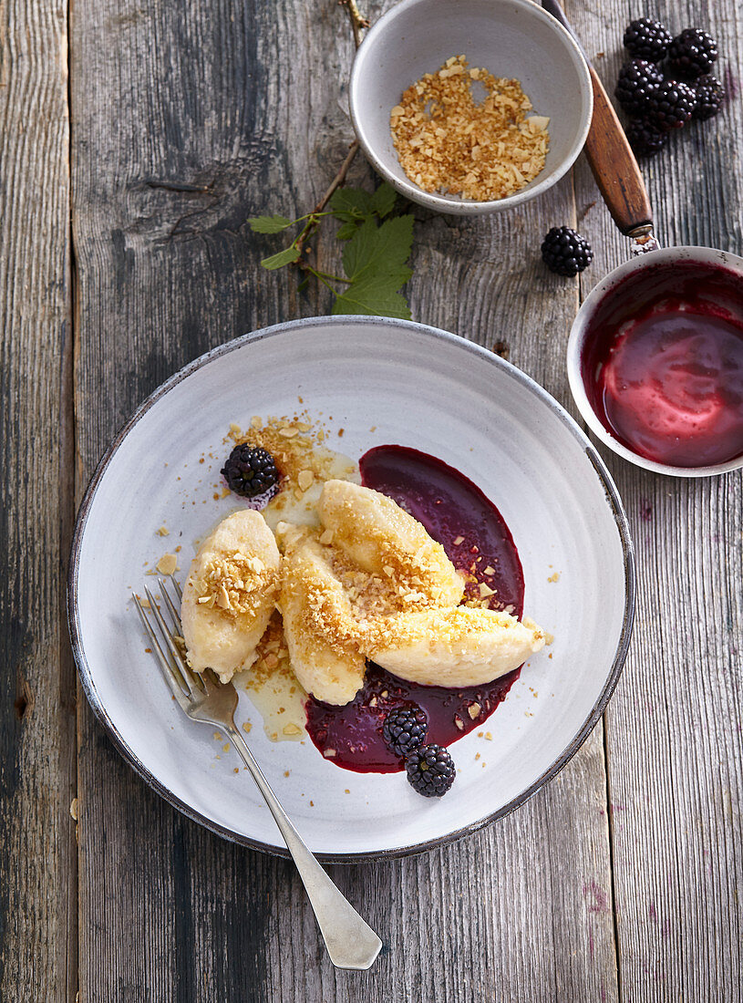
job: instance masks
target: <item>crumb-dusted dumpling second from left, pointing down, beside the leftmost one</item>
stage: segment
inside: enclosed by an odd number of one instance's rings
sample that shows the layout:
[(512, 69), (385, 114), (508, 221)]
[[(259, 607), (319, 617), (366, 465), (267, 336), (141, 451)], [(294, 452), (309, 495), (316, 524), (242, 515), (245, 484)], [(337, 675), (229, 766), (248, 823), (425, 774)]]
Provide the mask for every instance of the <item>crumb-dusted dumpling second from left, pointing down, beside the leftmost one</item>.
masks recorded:
[(279, 608), (294, 673), (326, 703), (349, 703), (364, 682), (357, 626), (329, 551), (312, 531), (285, 526)]

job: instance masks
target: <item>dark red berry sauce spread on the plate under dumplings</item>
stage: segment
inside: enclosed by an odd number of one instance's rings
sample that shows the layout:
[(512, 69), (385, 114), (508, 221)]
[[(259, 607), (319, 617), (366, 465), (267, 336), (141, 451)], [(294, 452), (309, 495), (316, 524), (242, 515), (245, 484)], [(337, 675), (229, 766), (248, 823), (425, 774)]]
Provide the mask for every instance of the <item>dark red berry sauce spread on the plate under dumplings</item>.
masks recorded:
[[(446, 551), (455, 568), (471, 578), (466, 594), (478, 596), (483, 582), (494, 595), (493, 610), (520, 618), (523, 574), (502, 516), (479, 487), (451, 466), (416, 449), (380, 445), (359, 463), (362, 482), (382, 491), (421, 523)], [(398, 679), (370, 664), (363, 688), (343, 707), (307, 701), (307, 730), (315, 745), (338, 766), (360, 773), (391, 773), (402, 759), (382, 738), (385, 716), (394, 707), (415, 704), (428, 717), (428, 741), (450, 745), (482, 728), (518, 678), (520, 669), (484, 686), (448, 689)]]

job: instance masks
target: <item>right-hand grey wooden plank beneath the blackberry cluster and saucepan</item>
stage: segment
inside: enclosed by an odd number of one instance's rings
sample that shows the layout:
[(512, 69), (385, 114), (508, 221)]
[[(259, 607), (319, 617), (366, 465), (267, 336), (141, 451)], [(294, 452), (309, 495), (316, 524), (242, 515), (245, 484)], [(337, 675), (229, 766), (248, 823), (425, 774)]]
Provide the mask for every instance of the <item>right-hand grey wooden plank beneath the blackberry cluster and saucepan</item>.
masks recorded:
[[(696, 0), (652, 8), (677, 33), (695, 25), (720, 43), (734, 82), (741, 64), (740, 5)], [(571, 16), (607, 88), (622, 62), (624, 20), (574, 0)], [(644, 164), (664, 245), (741, 254), (739, 97), (709, 122), (682, 130)], [(626, 260), (627, 242), (597, 203), (588, 169), (577, 176), (582, 230), (596, 260), (584, 292)], [(633, 652), (608, 712), (622, 998), (740, 1001), (743, 992), (743, 625), (740, 472), (705, 480), (660, 477), (608, 457), (638, 550)]]

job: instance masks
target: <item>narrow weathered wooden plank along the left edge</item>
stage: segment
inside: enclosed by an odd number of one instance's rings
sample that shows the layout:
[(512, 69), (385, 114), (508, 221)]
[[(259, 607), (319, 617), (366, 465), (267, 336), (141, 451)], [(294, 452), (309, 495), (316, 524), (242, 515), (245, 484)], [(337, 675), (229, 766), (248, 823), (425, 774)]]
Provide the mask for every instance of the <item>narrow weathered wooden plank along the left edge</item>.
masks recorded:
[(76, 985), (66, 5), (0, 4), (0, 998)]

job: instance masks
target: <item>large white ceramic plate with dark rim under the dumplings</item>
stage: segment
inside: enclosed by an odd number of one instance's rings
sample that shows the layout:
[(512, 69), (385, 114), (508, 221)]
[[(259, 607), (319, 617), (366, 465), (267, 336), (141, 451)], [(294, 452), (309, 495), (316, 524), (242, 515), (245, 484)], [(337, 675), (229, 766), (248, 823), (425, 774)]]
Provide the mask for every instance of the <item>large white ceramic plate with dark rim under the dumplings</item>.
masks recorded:
[(616, 685), (634, 609), (627, 521), (589, 439), (537, 384), (474, 344), (381, 318), (295, 321), (223, 345), (156, 390), (101, 460), (78, 515), (69, 620), (83, 687), (121, 752), (170, 803), (229, 839), (286, 853), (253, 781), (234, 772), (235, 753), (170, 699), (144, 652), (131, 590), (153, 581), (145, 562), (176, 544), (182, 577), (194, 541), (236, 508), (234, 496), (214, 497), (230, 423), (301, 406), (343, 428), (330, 445), (354, 458), (400, 443), (475, 481), (512, 532), (525, 612), (554, 635), (488, 719), (492, 740), (472, 732), (451, 747), (460, 772), (440, 799), (420, 797), (400, 773), (334, 766), (309, 739), (271, 742), (241, 695), (238, 719), (258, 722), (252, 747), (315, 853), (425, 850), (505, 814), (565, 765)]

